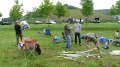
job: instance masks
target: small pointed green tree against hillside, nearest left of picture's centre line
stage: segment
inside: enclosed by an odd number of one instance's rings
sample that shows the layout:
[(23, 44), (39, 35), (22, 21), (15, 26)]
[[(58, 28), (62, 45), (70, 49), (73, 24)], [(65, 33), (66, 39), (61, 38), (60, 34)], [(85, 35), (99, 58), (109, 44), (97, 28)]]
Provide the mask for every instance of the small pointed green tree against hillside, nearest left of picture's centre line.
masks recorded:
[(67, 16), (68, 15), (67, 9), (58, 1), (56, 4), (56, 10), (55, 10), (55, 15), (58, 16), (59, 20), (61, 17)]

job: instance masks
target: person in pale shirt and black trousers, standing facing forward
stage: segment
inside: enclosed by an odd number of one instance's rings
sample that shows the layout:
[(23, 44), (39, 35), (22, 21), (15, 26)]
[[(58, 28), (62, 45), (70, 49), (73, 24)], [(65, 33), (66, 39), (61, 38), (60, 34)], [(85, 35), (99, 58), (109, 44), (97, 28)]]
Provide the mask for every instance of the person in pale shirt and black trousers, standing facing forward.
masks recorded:
[(76, 20), (74, 24), (75, 45), (77, 44), (77, 37), (79, 39), (79, 45), (81, 46), (80, 31), (82, 25)]

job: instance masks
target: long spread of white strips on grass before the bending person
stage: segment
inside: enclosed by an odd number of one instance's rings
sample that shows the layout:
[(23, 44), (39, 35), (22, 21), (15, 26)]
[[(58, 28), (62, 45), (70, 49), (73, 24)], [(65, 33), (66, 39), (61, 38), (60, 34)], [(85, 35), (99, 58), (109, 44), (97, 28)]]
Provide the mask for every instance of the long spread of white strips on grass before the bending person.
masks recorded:
[(90, 54), (89, 52), (90, 51), (93, 51), (94, 49), (91, 49), (91, 50), (87, 50), (87, 51), (61, 51), (59, 52), (60, 53), (60, 56), (58, 57), (64, 57), (64, 58), (67, 58), (67, 59), (72, 59), (72, 60), (75, 60), (77, 58), (79, 58), (80, 56), (86, 56), (87, 58), (89, 57), (95, 57), (97, 56), (98, 58), (100, 58), (99, 56), (99, 53), (98, 54)]

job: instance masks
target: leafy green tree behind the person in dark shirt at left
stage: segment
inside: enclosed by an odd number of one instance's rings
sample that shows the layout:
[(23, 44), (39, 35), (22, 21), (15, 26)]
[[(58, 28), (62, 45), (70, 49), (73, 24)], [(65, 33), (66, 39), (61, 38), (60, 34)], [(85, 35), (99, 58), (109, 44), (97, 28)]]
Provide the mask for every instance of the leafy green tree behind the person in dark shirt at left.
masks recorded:
[(22, 4), (19, 5), (19, 1), (15, 0), (15, 5), (10, 10), (9, 14), (10, 19), (15, 22), (16, 20), (19, 20), (22, 17), (22, 14), (23, 14)]

